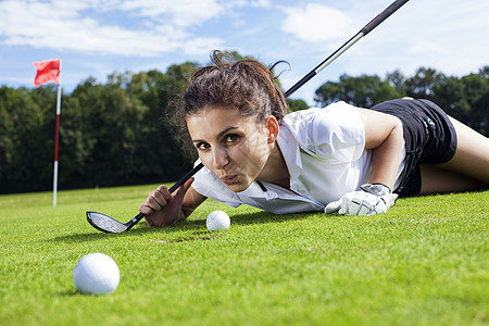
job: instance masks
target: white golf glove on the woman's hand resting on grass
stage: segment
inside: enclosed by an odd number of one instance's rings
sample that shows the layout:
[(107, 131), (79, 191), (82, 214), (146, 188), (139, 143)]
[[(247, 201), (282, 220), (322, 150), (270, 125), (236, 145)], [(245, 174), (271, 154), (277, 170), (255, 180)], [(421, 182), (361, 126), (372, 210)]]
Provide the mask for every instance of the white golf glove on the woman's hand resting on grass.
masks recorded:
[(342, 215), (375, 215), (386, 213), (394, 205), (399, 195), (391, 193), (383, 184), (365, 184), (362, 191), (346, 193), (340, 200), (330, 202), (324, 209), (326, 214), (338, 212)]

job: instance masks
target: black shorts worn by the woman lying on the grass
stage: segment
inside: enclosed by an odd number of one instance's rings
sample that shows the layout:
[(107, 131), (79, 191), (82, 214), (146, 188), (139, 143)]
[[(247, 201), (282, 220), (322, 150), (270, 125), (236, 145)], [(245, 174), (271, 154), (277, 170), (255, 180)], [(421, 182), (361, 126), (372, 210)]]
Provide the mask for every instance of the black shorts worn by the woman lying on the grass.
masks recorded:
[(453, 158), (456, 150), (455, 128), (443, 110), (428, 100), (391, 100), (372, 110), (401, 120), (405, 142), (404, 172), (394, 192), (401, 197), (419, 195), (419, 165), (440, 164)]

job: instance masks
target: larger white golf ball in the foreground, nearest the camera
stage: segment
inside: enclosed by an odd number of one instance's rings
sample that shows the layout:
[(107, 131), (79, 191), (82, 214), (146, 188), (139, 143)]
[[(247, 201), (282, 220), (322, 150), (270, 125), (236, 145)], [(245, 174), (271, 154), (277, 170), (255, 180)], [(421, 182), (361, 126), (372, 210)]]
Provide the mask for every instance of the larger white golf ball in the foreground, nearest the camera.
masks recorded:
[(117, 288), (120, 279), (117, 264), (104, 253), (93, 252), (83, 256), (73, 269), (73, 280), (82, 293), (111, 293)]

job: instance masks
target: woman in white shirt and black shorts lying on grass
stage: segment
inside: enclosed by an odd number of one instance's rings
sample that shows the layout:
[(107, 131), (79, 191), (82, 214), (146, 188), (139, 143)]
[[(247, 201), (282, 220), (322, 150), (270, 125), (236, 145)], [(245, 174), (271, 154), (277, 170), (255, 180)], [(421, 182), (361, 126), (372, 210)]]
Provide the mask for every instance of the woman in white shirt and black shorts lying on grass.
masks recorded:
[(371, 110), (339, 102), (286, 115), (267, 67), (223, 61), (217, 51), (212, 59), (189, 78), (177, 110), (205, 167), (174, 193), (163, 185), (149, 193), (139, 211), (150, 226), (183, 220), (206, 198), (277, 214), (372, 215), (398, 193), (489, 184), (488, 138), (432, 102), (393, 100)]

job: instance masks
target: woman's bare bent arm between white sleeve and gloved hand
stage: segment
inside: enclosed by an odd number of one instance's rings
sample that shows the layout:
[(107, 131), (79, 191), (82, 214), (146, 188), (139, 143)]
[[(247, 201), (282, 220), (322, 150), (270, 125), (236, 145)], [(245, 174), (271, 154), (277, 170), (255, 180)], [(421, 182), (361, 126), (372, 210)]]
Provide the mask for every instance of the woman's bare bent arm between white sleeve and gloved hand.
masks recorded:
[(359, 109), (365, 128), (365, 149), (372, 149), (371, 184), (380, 183), (393, 190), (402, 154), (402, 123), (389, 114)]

